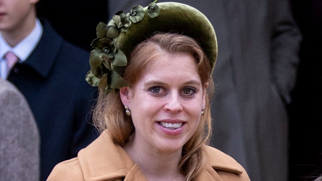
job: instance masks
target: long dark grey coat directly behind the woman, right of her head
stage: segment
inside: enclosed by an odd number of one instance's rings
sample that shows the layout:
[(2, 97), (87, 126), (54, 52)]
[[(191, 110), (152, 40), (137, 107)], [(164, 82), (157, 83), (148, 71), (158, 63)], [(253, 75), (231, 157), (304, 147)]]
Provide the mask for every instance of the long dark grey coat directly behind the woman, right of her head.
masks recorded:
[[(110, 18), (151, 1), (108, 1)], [(161, 1), (162, 2), (162, 1)], [(251, 180), (286, 181), (288, 114), (300, 34), (287, 0), (175, 0), (200, 10), (214, 26), (211, 145), (243, 165)]]

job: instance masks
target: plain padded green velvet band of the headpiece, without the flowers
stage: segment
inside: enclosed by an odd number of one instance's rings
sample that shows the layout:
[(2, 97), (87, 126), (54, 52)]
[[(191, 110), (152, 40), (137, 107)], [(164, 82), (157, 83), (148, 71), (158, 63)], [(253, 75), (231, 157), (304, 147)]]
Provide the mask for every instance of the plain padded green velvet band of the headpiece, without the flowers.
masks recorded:
[(212, 69), (217, 59), (217, 38), (209, 20), (197, 9), (181, 3), (157, 3), (160, 15), (132, 23), (126, 32), (116, 38), (115, 47), (127, 58), (133, 48), (154, 32), (177, 32), (197, 40), (205, 51)]

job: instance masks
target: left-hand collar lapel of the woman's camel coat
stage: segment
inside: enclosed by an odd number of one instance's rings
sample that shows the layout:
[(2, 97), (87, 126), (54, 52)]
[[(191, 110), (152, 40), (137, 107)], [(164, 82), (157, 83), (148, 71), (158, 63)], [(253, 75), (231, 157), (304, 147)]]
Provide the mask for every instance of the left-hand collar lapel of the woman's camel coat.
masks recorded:
[(114, 180), (125, 176), (128, 180), (147, 180), (125, 150), (113, 143), (107, 130), (79, 151), (77, 157), (85, 180)]

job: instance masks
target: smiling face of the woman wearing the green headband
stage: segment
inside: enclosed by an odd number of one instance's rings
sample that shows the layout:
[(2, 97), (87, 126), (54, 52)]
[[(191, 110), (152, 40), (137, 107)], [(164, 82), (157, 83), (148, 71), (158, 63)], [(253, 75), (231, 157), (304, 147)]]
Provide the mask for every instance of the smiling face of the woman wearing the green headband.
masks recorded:
[(126, 96), (121, 93), (131, 111), (134, 144), (181, 152), (198, 127), (205, 85), (191, 55), (167, 55), (147, 67), (138, 82), (127, 87)]

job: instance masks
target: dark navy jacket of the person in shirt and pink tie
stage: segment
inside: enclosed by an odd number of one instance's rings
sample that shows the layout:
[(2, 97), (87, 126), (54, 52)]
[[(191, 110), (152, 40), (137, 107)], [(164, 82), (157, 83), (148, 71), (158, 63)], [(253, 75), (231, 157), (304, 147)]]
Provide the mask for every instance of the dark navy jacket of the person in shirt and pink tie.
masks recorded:
[(89, 52), (64, 41), (48, 22), (41, 23), (40, 42), (25, 62), (13, 67), (8, 80), (26, 97), (37, 121), (45, 180), (55, 164), (77, 156), (96, 138), (89, 124), (96, 88), (85, 81)]

